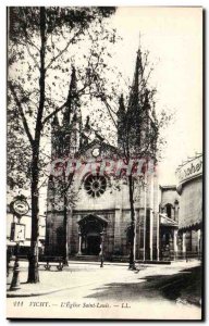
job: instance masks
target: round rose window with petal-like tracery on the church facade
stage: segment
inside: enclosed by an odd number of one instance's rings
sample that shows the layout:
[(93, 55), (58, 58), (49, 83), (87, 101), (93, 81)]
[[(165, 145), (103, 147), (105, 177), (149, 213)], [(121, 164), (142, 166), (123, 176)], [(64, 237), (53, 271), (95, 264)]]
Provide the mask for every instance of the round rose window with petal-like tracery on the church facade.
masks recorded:
[(100, 197), (106, 191), (107, 180), (104, 176), (89, 175), (84, 183), (84, 187), (91, 197)]

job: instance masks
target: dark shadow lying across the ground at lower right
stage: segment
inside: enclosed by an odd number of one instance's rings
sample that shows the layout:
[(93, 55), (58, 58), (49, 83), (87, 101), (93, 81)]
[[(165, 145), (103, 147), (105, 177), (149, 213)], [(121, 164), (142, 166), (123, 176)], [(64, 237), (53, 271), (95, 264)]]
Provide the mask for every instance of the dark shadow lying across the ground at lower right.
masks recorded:
[(99, 300), (132, 300), (159, 299), (181, 300), (200, 306), (201, 268), (193, 267), (181, 271), (175, 275), (157, 275), (138, 278), (138, 283), (111, 283), (102, 288), (94, 289), (94, 293), (86, 298)]

